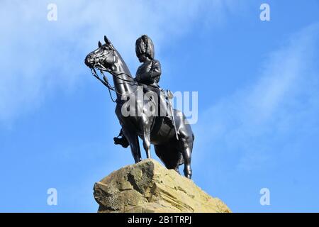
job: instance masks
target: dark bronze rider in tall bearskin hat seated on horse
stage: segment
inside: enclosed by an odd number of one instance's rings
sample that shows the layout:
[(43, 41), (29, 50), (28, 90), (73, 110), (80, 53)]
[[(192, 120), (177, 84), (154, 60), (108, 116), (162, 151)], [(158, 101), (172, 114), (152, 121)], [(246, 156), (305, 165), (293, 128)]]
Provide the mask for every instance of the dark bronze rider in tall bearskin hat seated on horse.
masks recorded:
[[(165, 102), (161, 94), (162, 89), (158, 85), (162, 73), (161, 65), (158, 60), (154, 59), (154, 44), (152, 40), (147, 35), (142, 35), (136, 40), (135, 52), (138, 60), (142, 63), (136, 72), (136, 82), (143, 86), (145, 93), (155, 92), (159, 100)], [(128, 140), (123, 135), (122, 130), (118, 137), (114, 138), (114, 143), (121, 144), (123, 148), (128, 147)]]

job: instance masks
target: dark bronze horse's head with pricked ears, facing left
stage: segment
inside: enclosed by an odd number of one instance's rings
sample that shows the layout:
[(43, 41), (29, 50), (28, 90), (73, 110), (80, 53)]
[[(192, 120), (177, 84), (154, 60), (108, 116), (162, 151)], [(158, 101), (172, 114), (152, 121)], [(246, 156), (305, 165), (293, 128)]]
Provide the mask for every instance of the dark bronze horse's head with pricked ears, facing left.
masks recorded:
[(85, 57), (85, 65), (88, 67), (96, 68), (98, 70), (108, 71), (113, 67), (116, 60), (116, 51), (112, 43), (104, 35), (105, 44), (99, 41), (99, 48), (89, 53)]

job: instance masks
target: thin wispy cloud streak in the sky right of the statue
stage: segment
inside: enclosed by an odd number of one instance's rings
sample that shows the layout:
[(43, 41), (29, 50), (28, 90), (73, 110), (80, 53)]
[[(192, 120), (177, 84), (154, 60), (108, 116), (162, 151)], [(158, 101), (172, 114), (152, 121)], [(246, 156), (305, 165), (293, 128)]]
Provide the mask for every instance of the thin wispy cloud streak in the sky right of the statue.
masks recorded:
[(197, 150), (223, 153), (240, 170), (276, 162), (280, 153), (291, 156), (292, 144), (319, 127), (318, 38), (318, 24), (293, 34), (268, 55), (254, 82), (199, 116)]

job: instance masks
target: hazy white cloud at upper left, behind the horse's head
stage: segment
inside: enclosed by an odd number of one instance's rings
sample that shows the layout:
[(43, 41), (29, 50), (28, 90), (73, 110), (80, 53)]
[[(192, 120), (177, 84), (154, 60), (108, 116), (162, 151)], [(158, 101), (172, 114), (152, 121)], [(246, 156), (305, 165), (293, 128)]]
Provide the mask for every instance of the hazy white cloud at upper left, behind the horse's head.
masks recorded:
[(83, 78), (85, 55), (104, 34), (135, 68), (139, 35), (150, 35), (160, 52), (198, 18), (218, 21), (233, 6), (230, 0), (52, 2), (56, 22), (47, 21), (51, 1), (1, 1), (0, 123), (35, 109), (48, 92), (72, 89)]

